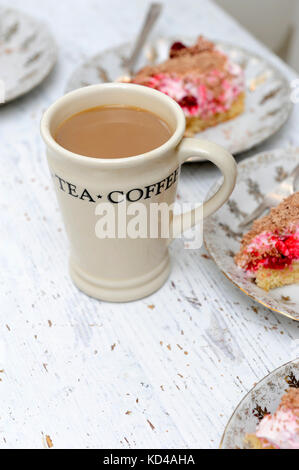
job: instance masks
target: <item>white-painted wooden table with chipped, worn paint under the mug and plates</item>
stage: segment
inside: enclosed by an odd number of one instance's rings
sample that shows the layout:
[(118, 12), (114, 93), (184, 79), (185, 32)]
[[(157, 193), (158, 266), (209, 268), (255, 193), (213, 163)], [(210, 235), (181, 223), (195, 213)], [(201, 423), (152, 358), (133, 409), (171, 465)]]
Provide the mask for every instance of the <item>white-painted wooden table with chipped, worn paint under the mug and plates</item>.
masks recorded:
[[(40, 117), (84, 58), (134, 37), (147, 3), (10, 2), (50, 24), (60, 53), (42, 86), (0, 110), (1, 448), (217, 448), (244, 394), (299, 353), (299, 323), (251, 301), (181, 241), (169, 282), (148, 299), (101, 303), (69, 279)], [(165, 4), (154, 34), (235, 41), (295, 76), (212, 2)], [(258, 150), (298, 145), (298, 125), (297, 106)], [(182, 199), (203, 198), (218, 176), (185, 166)]]

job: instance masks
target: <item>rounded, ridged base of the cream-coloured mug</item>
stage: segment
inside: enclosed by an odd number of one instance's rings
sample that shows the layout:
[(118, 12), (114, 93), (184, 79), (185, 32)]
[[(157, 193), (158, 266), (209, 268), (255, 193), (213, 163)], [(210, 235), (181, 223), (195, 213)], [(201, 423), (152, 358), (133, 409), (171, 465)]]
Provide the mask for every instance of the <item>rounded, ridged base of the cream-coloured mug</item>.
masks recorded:
[(165, 284), (170, 270), (170, 257), (167, 255), (150, 273), (130, 281), (114, 283), (87, 275), (72, 259), (70, 260), (70, 276), (78, 289), (89, 297), (105, 302), (133, 302), (148, 297)]

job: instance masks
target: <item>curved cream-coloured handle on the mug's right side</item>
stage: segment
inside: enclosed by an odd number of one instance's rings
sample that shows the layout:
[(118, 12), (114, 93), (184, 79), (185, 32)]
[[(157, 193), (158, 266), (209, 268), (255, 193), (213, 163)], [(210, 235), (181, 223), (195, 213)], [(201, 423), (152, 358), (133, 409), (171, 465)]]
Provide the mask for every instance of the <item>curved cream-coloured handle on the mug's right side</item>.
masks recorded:
[(236, 184), (237, 164), (234, 157), (224, 148), (207, 140), (184, 138), (177, 148), (177, 155), (180, 165), (189, 157), (199, 157), (197, 161), (209, 160), (214, 163), (221, 171), (224, 181), (220, 189), (208, 201), (203, 204), (203, 208), (193, 209), (189, 212), (188, 218), (184, 222), (183, 217), (186, 214), (179, 214), (173, 217), (172, 234), (173, 238), (182, 235), (182, 232), (195, 227), (202, 217), (208, 217), (216, 212), (229, 198)]

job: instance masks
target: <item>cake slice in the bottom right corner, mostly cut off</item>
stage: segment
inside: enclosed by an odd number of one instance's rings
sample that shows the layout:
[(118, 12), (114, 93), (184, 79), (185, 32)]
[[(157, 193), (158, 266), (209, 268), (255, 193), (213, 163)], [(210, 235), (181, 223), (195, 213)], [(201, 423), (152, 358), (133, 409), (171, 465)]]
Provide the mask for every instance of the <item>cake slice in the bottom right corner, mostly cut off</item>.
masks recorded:
[(299, 389), (290, 388), (277, 411), (260, 421), (255, 434), (245, 436), (251, 449), (299, 449)]

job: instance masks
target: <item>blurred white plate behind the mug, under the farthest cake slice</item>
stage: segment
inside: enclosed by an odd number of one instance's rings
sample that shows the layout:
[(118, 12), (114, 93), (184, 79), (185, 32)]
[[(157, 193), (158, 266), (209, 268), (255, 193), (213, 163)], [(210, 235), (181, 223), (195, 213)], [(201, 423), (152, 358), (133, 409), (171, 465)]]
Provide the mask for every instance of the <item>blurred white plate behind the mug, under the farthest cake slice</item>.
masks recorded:
[[(180, 40), (192, 44), (190, 38), (160, 38), (144, 48), (136, 70), (154, 57), (156, 63), (168, 57), (170, 46)], [(291, 110), (290, 87), (286, 78), (263, 58), (239, 47), (214, 41), (245, 71), (246, 111), (232, 121), (207, 129), (198, 136), (222, 145), (233, 154), (244, 152), (270, 137), (287, 120)], [(106, 50), (82, 64), (72, 75), (67, 91), (96, 83), (111, 82), (124, 75), (123, 63), (132, 45), (123, 44)], [(155, 54), (153, 54), (155, 51)], [(196, 157), (189, 161), (196, 161)]]

